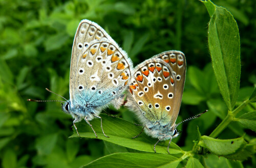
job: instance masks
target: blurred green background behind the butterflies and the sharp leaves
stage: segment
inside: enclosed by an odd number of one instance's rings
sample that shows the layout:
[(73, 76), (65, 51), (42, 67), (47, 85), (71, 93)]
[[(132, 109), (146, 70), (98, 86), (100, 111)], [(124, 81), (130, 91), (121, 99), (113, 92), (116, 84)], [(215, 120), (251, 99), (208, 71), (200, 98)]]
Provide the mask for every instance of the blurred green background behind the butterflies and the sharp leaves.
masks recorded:
[[(227, 8), (239, 26), (239, 105), (256, 85), (256, 2), (212, 2)], [(46, 87), (69, 98), (72, 43), (84, 18), (105, 29), (134, 65), (167, 50), (185, 54), (187, 74), (177, 122), (205, 109), (209, 112), (183, 124), (181, 136), (174, 139), (183, 150), (193, 147), (197, 126), (202, 135), (209, 135), (226, 115), (207, 47), (209, 15), (198, 0), (0, 0), (0, 9), (0, 165), (4, 168), (79, 167), (111, 153), (109, 142), (69, 138), (72, 117), (61, 111), (60, 103), (26, 101), (61, 100)], [(250, 105), (241, 114), (255, 109)], [(125, 108), (106, 111), (136, 122)], [(236, 138), (244, 132), (246, 140), (254, 138), (254, 132), (238, 123), (232, 123), (219, 138)], [(253, 164), (255, 156), (244, 161), (245, 167)]]

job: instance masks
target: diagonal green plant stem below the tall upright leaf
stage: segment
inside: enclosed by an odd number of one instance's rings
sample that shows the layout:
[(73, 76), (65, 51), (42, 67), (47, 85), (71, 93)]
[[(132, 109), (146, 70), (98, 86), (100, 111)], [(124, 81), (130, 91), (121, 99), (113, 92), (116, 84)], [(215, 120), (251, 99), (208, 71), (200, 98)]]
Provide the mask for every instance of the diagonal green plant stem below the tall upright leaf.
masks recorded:
[(236, 118), (236, 115), (239, 111), (241, 111), (248, 103), (250, 103), (250, 100), (244, 101), (240, 106), (238, 106), (233, 111), (228, 111), (227, 116), (223, 119), (221, 124), (209, 135), (212, 138), (216, 138), (228, 125), (230, 122), (234, 121)]

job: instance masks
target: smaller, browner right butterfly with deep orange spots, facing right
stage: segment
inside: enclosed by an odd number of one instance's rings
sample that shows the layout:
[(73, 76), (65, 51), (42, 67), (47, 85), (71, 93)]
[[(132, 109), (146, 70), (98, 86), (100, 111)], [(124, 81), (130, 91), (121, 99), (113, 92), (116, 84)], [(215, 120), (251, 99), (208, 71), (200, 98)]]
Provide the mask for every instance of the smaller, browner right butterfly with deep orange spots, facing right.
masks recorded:
[(159, 139), (154, 146), (155, 152), (159, 141), (170, 139), (170, 145), (172, 138), (179, 135), (176, 127), (180, 123), (176, 125), (175, 122), (180, 110), (185, 75), (186, 60), (180, 51), (160, 53), (135, 67), (126, 106), (136, 112), (143, 126), (142, 131)]

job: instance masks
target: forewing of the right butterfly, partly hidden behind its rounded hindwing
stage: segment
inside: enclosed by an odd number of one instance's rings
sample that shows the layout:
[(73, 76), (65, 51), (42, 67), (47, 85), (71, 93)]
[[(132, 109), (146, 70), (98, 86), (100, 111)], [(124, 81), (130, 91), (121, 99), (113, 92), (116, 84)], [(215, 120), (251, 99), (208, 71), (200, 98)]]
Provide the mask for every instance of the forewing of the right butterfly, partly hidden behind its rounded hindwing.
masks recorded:
[(180, 111), (180, 105), (182, 100), (182, 94), (184, 89), (185, 77), (186, 77), (186, 59), (185, 55), (180, 51), (166, 51), (160, 53), (153, 58), (161, 58), (172, 67), (174, 70), (174, 78), (176, 78), (175, 89), (175, 107), (172, 110), (172, 122), (175, 124)]

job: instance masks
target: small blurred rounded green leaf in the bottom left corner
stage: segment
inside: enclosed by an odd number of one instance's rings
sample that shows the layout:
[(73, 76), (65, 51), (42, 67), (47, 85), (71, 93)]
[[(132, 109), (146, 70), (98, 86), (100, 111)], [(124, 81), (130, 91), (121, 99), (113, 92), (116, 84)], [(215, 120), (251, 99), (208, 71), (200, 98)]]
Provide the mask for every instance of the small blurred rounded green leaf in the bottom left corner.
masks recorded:
[(2, 166), (3, 168), (15, 168), (16, 165), (17, 165), (17, 156), (13, 150), (8, 149), (4, 153)]

